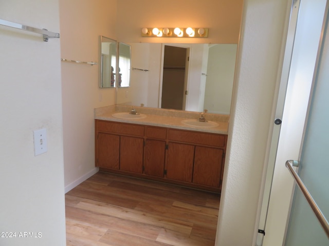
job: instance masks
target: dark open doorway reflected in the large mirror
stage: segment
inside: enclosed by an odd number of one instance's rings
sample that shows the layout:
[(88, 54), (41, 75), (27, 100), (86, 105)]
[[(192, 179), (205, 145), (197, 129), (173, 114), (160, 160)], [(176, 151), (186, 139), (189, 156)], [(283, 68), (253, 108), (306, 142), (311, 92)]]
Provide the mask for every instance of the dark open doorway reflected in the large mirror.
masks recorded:
[(162, 66), (162, 109), (185, 110), (189, 48), (164, 46)]

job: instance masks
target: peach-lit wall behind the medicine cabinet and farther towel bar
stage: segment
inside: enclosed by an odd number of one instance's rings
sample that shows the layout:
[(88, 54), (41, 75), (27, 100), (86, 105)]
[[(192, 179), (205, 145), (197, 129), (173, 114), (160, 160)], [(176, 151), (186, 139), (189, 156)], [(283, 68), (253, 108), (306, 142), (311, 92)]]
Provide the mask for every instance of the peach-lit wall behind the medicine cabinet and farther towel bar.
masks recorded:
[[(99, 89), (99, 35), (116, 39), (116, 0), (59, 0), (61, 56), (98, 65), (62, 62), (65, 191), (95, 168), (94, 108), (113, 105), (115, 89)], [(109, 14), (111, 13), (111, 14)]]

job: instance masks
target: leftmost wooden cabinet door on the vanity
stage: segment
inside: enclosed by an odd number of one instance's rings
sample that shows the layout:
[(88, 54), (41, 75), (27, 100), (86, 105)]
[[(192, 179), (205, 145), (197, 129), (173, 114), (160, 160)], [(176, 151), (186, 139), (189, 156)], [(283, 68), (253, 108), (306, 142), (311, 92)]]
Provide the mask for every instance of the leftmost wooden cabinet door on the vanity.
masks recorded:
[(96, 166), (119, 169), (120, 137), (118, 135), (98, 133)]

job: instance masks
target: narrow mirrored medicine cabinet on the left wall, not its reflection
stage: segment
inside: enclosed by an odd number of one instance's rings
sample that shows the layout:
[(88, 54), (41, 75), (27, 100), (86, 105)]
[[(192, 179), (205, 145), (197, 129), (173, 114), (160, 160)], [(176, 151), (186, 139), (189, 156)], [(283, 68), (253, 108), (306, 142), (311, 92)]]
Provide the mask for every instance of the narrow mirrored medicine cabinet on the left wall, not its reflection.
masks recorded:
[(117, 69), (117, 42), (108, 37), (99, 37), (100, 47), (100, 71), (99, 87), (116, 87), (116, 69)]

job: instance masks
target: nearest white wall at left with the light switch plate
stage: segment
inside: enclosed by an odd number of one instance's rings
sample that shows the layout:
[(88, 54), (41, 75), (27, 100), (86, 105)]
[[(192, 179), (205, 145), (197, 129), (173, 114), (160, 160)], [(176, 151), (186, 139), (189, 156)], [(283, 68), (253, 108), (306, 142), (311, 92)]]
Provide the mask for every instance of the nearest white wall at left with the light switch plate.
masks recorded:
[[(1, 0), (0, 16), (60, 32), (58, 0)], [(65, 245), (60, 39), (0, 26), (0, 40), (0, 232), (16, 233), (0, 245)], [(34, 156), (42, 128), (48, 151)]]

